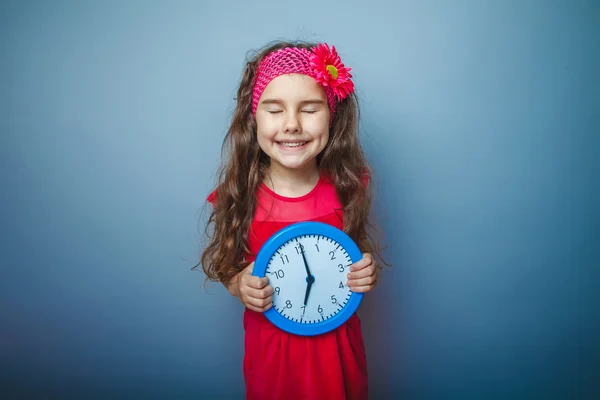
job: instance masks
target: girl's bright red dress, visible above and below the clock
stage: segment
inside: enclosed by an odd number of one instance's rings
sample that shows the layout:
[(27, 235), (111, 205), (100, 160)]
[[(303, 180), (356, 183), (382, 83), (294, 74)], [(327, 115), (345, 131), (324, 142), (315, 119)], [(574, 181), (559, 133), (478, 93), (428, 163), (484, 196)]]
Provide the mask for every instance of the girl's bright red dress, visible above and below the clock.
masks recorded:
[[(209, 196), (214, 201), (214, 194)], [(300, 221), (321, 221), (343, 228), (335, 186), (324, 176), (302, 197), (283, 197), (262, 184), (248, 235), (254, 261), (275, 232)], [(356, 314), (334, 331), (297, 336), (262, 314), (244, 312), (246, 399), (367, 399), (367, 365), (361, 322)]]

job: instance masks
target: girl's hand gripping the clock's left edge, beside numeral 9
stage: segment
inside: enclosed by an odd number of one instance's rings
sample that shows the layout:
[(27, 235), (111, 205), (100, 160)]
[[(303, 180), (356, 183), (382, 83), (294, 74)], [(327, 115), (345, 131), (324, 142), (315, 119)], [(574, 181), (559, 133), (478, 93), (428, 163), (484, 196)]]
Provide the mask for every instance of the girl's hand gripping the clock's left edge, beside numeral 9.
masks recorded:
[(252, 275), (254, 262), (250, 263), (243, 271), (237, 274), (233, 284), (236, 296), (246, 308), (256, 312), (265, 312), (273, 305), (273, 287), (269, 285), (269, 278), (259, 278)]

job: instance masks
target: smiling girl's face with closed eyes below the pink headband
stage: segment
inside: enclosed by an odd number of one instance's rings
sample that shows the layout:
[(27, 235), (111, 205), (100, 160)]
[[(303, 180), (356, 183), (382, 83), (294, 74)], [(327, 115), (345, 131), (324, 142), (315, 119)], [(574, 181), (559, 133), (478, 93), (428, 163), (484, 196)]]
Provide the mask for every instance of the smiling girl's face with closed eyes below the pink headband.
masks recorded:
[(288, 74), (273, 79), (256, 110), (258, 145), (270, 157), (271, 168), (317, 168), (317, 155), (329, 140), (329, 114), (325, 90), (313, 78)]

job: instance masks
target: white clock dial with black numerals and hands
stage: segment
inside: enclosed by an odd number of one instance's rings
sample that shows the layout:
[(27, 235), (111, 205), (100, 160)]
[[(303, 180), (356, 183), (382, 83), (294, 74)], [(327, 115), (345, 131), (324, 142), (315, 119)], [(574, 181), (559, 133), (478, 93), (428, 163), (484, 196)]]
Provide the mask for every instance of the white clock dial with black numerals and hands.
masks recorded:
[(285, 318), (305, 324), (334, 317), (351, 295), (346, 285), (350, 265), (346, 250), (328, 237), (302, 235), (285, 242), (266, 268), (274, 289), (273, 307)]

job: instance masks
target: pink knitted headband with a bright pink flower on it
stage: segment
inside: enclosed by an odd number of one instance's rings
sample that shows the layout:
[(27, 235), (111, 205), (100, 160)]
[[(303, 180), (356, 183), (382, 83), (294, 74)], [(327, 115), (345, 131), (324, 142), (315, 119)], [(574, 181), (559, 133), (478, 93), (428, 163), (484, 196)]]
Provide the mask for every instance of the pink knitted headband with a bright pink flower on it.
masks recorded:
[(319, 43), (311, 49), (286, 47), (266, 56), (258, 66), (252, 92), (252, 114), (256, 115), (258, 101), (273, 79), (283, 74), (304, 74), (317, 81), (327, 93), (331, 118), (338, 101), (354, 92), (351, 68), (344, 66), (335, 46)]

